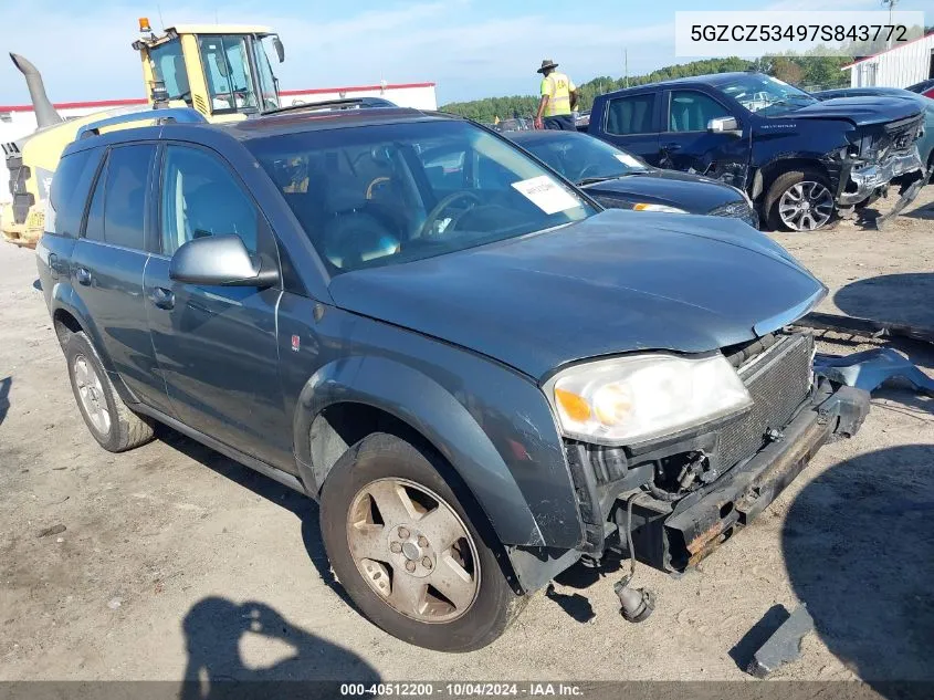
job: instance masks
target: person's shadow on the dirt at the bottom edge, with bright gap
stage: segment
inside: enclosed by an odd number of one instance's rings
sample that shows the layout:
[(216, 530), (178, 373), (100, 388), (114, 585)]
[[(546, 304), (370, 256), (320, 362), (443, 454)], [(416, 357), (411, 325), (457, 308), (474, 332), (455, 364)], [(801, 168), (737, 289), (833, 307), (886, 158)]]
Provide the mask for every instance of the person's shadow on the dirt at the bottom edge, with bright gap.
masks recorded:
[[(291, 624), (263, 603), (242, 605), (211, 596), (182, 620), (188, 661), (179, 698), (336, 698), (342, 683), (379, 682), (379, 673), (356, 654)], [(241, 649), (250, 637), (291, 647), (281, 660), (255, 668)]]

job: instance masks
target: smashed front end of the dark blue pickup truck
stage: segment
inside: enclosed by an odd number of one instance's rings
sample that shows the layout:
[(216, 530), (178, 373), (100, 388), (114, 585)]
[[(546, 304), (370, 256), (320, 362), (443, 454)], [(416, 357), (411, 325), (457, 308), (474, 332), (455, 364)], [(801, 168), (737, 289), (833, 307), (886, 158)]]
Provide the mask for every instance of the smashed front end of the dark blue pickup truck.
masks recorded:
[(830, 157), (840, 173), (835, 199), (843, 207), (858, 205), (878, 194), (893, 179), (922, 174), (917, 150), (921, 117), (911, 117), (854, 132), (850, 145)]

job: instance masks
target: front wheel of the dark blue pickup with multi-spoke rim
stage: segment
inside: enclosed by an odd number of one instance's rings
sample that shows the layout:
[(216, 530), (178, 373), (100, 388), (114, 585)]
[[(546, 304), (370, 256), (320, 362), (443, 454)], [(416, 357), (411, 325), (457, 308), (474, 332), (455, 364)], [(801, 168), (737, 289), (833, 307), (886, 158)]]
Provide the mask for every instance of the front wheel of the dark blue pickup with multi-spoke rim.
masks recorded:
[(817, 231), (833, 218), (830, 184), (816, 170), (789, 170), (775, 178), (764, 212), (773, 230)]

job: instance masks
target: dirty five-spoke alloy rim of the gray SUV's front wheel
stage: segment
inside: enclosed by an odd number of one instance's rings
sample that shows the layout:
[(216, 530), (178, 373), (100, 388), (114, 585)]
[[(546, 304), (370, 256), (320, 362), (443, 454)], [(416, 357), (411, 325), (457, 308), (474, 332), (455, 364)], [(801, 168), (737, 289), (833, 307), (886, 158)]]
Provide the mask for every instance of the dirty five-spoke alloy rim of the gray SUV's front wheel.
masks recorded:
[(378, 479), (354, 497), (347, 544), (370, 588), (421, 623), (466, 613), (480, 591), (473, 537), (437, 493), (407, 479)]

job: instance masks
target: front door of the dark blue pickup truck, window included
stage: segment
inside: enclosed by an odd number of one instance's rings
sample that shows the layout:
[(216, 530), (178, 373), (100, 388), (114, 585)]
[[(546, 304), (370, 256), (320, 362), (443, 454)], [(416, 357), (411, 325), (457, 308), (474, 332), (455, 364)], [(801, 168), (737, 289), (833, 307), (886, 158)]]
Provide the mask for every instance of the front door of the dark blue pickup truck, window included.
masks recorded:
[[(741, 189), (746, 187), (751, 129), (720, 102), (695, 90), (667, 93), (664, 129), (660, 135), (659, 167), (706, 175)], [(715, 134), (707, 123), (733, 116), (743, 135)]]

